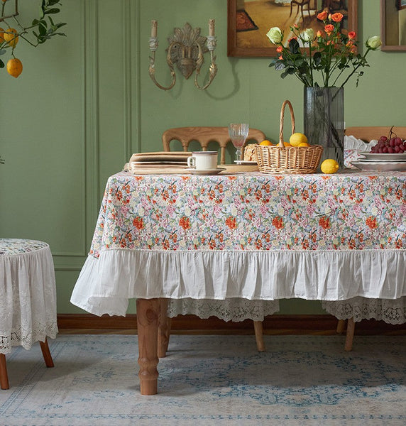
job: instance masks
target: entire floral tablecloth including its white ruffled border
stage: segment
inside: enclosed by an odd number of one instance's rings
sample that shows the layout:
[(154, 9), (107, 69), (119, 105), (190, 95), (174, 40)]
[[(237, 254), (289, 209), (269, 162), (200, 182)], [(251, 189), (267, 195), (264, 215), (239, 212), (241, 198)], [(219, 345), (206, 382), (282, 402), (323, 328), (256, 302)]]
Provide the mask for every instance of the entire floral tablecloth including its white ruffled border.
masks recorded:
[(405, 200), (400, 172), (118, 173), (72, 302), (124, 315), (129, 297), (397, 299)]

